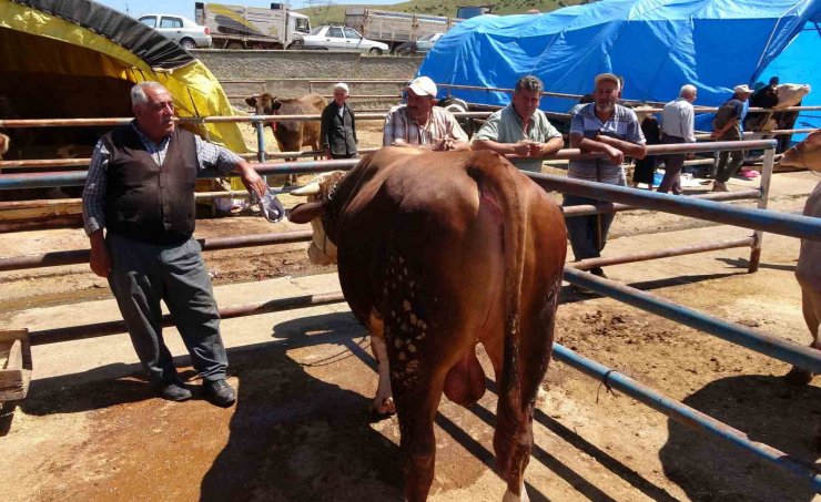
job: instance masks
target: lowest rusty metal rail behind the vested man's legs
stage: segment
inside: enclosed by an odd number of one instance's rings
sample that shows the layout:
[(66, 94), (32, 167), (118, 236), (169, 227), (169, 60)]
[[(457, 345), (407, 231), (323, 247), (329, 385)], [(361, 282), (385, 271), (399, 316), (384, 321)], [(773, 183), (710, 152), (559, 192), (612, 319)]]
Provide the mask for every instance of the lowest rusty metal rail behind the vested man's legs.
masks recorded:
[[(233, 317), (255, 316), (257, 314), (276, 313), (281, 310), (292, 310), (296, 308), (315, 307), (318, 305), (338, 304), (345, 301), (345, 297), (339, 291), (323, 293), (318, 295), (295, 296), (288, 298), (278, 298), (270, 301), (260, 301), (236, 307), (226, 307), (220, 309), (222, 319)], [(174, 326), (171, 315), (162, 316), (162, 326)], [(29, 340), (31, 345), (57, 344), (61, 341), (82, 340), (85, 338), (95, 338), (108, 335), (118, 335), (125, 332), (125, 322), (122, 320), (112, 320), (108, 322), (94, 322), (90, 325), (71, 326), (67, 328), (42, 329), (30, 331)]]

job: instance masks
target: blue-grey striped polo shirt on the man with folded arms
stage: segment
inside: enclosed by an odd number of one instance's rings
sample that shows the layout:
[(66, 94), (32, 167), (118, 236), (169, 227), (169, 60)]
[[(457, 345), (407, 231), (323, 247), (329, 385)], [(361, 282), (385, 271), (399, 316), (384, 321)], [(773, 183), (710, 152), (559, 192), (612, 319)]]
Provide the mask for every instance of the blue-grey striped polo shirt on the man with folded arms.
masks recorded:
[[(570, 135), (579, 134), (589, 139), (602, 134), (637, 145), (647, 143), (636, 112), (620, 104), (616, 105), (612, 115), (604, 123), (596, 116), (596, 103), (574, 107), (574, 114), (570, 119)], [(625, 168), (606, 157), (570, 161), (567, 177), (610, 185), (627, 185)]]

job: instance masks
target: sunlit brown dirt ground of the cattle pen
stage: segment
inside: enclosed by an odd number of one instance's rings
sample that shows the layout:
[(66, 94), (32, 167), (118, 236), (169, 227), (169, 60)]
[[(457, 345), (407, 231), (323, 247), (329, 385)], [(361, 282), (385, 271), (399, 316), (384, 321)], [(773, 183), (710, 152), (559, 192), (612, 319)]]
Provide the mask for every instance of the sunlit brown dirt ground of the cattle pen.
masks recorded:
[[(377, 133), (362, 143), (375, 142)], [(770, 207), (799, 211), (817, 178), (777, 174)], [(733, 180), (731, 188), (751, 186)], [(699, 192), (692, 189), (690, 193)], [(293, 201), (283, 197), (285, 205)], [(749, 206), (749, 203), (746, 205)], [(295, 229), (259, 216), (203, 219), (197, 236)], [(651, 212), (621, 213), (610, 256), (736, 238), (750, 230)], [(0, 235), (0, 257), (88, 246), (82, 230)], [(205, 253), (219, 289), (272, 278), (333, 274), (307, 264), (305, 244)], [(761, 269), (747, 274), (747, 249), (608, 267), (610, 278), (722, 319), (801, 345), (810, 341), (794, 280), (798, 240), (767, 235)], [(110, 298), (85, 265), (0, 273), (0, 326), (26, 310)], [(320, 293), (320, 291), (317, 291)], [(251, 297), (247, 301), (256, 301)], [(111, 305), (105, 304), (105, 305)], [(40, 310), (37, 310), (40, 311)], [(47, 310), (42, 310), (47, 311)], [(256, 317), (256, 316), (255, 316)], [(64, 319), (38, 319), (57, 326)], [(239, 324), (224, 322), (226, 337)], [(396, 418), (374, 420), (376, 386), (368, 340), (344, 305), (256, 319), (267, 341), (230, 349), (233, 408), (202, 399), (155, 398), (130, 363), (82, 373), (68, 344), (55, 376), (0, 417), (0, 486), (10, 501), (109, 500), (402, 500)], [(249, 328), (250, 329), (250, 328)], [(789, 365), (598, 296), (562, 288), (557, 341), (665, 396), (683, 401), (772, 445), (819, 464), (808, 441), (821, 420), (818, 380), (791, 387)], [(112, 337), (112, 344), (113, 339)], [(128, 345), (122, 337), (121, 344)], [(94, 347), (105, 350), (107, 340)], [(45, 350), (43, 348), (42, 350)], [(196, 387), (186, 357), (183, 376)], [(489, 366), (483, 359), (488, 377)], [(112, 371), (118, 376), (111, 378)], [(534, 421), (526, 473), (534, 501), (810, 501), (804, 480), (752, 454), (608, 391), (551, 362)], [(436, 419), (435, 501), (500, 500), (493, 474), (496, 395), (469, 409), (443, 400)]]

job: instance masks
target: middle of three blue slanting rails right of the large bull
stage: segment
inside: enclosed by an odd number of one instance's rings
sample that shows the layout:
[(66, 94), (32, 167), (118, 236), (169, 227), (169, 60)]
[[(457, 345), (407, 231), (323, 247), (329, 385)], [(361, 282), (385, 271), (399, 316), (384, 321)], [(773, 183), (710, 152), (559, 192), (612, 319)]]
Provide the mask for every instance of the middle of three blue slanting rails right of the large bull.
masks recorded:
[(565, 280), (614, 298), (627, 305), (647, 310), (678, 324), (689, 326), (718, 338), (731, 341), (759, 354), (805, 368), (814, 373), (821, 372), (821, 351), (795, 342), (758, 332), (746, 326), (728, 322), (708, 316), (689, 307), (661, 299), (649, 293), (636, 289), (615, 280), (604, 279), (587, 272), (565, 266)]

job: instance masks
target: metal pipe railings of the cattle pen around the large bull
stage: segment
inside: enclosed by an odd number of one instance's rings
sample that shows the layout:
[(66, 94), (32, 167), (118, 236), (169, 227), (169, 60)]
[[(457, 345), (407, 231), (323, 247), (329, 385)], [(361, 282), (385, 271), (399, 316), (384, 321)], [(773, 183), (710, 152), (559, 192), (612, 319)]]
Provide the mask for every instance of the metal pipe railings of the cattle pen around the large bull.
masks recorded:
[[(466, 115), (470, 116), (470, 115)], [(486, 116), (486, 113), (475, 114), (473, 116)], [(373, 119), (379, 119), (382, 115), (374, 116)], [(244, 121), (254, 121), (262, 123), (264, 116), (252, 116), (245, 117)], [(316, 117), (283, 117), (277, 116), (277, 120), (315, 120)], [(364, 117), (363, 117), (364, 119)], [(213, 119), (207, 119), (213, 120)], [(221, 119), (217, 119), (221, 120)], [(230, 120), (230, 119), (222, 119)], [(231, 120), (236, 120), (231, 119)], [(10, 121), (9, 121), (10, 122)], [(113, 124), (109, 120), (104, 122), (107, 125)], [(99, 122), (94, 122), (99, 124)], [(22, 125), (22, 124), (12, 124)], [(37, 124), (27, 124), (29, 126)], [(79, 124), (78, 124), (79, 125)], [(89, 125), (88, 123), (84, 125)], [(531, 177), (548, 189), (558, 189), (560, 192), (574, 193), (577, 195), (591, 196), (592, 198), (610, 201), (611, 204), (601, 204), (599, 206), (581, 206), (575, 207), (572, 211), (568, 211), (566, 216), (572, 217), (574, 215), (580, 214), (594, 214), (600, 212), (610, 211), (626, 211), (635, 207), (651, 208), (655, 211), (670, 212), (675, 214), (686, 214), (688, 216), (696, 216), (699, 218), (727, 223), (752, 228), (756, 233), (751, 237), (724, 240), (716, 243), (706, 243), (699, 245), (692, 245), (682, 248), (668, 248), (655, 252), (646, 252), (640, 255), (634, 256), (611, 256), (607, 258), (600, 258), (599, 260), (587, 260), (579, 264), (572, 264), (565, 270), (565, 279), (571, 284), (578, 284), (595, 291), (611, 296), (620, 301), (625, 301), (632, 306), (641, 309), (646, 309), (653, 314), (662, 317), (667, 317), (700, 329), (705, 332), (712, 334), (719, 337), (723, 337), (747, 347), (752, 350), (760, 351), (780, 360), (795, 363), (801, 367), (811, 369), (813, 371), (821, 372), (821, 357), (817, 351), (810, 350), (805, 347), (798, 346), (792, 342), (783, 341), (777, 337), (772, 337), (766, 334), (760, 334), (756, 330), (749, 329), (743, 326), (733, 325), (731, 322), (723, 321), (721, 319), (706, 316), (691, 309), (685, 308), (680, 305), (676, 305), (669, 301), (661, 300), (652, 295), (619, 285), (612, 280), (601, 279), (579, 272), (579, 269), (591, 268), (602, 265), (612, 265), (618, 263), (631, 263), (645, 259), (652, 259), (658, 257), (667, 256), (681, 256), (686, 254), (700, 253), (706, 250), (714, 250), (730, 247), (751, 247), (751, 258), (749, 272), (754, 272), (758, 267), (758, 256), (760, 255), (763, 232), (783, 234), (792, 237), (800, 238), (821, 238), (821, 223), (813, 221), (812, 218), (776, 214), (767, 212), (767, 196), (770, 175), (773, 167), (773, 147), (774, 141), (750, 141), (743, 143), (712, 143), (712, 144), (696, 144), (689, 146), (649, 146), (648, 154), (658, 155), (662, 153), (678, 153), (678, 152), (714, 152), (721, 150), (738, 148), (739, 146), (747, 148), (762, 148), (764, 150), (764, 164), (762, 168), (761, 187), (758, 189), (751, 189), (746, 192), (733, 192), (729, 194), (707, 194), (697, 197), (675, 197), (665, 194), (646, 193), (629, 188), (619, 187), (602, 187), (598, 185), (590, 185), (580, 182), (572, 182), (564, 180), (557, 176), (549, 175), (533, 175)], [(264, 152), (264, 144), (261, 144), (261, 152)], [(557, 158), (576, 158), (581, 155), (578, 151), (565, 150), (557, 155)], [(262, 156), (262, 158), (265, 158)], [(74, 165), (82, 165), (82, 162), (88, 160), (77, 160)], [(60, 161), (58, 161), (60, 162)], [(62, 161), (65, 162), (65, 161)], [(74, 161), (72, 161), (74, 162)], [(259, 171), (263, 174), (304, 174), (304, 173), (318, 173), (328, 170), (346, 170), (351, 168), (355, 164), (355, 161), (331, 161), (331, 162), (301, 162), (298, 164), (272, 164), (261, 163), (256, 164)], [(64, 164), (52, 164), (64, 165)], [(78, 186), (82, 185), (84, 181), (84, 173), (72, 172), (72, 173), (36, 173), (36, 174), (3, 174), (0, 175), (0, 189), (11, 188), (31, 188), (31, 187), (53, 187), (53, 186)], [(731, 199), (758, 199), (759, 209), (741, 209), (737, 207), (726, 206), (720, 204), (720, 201)], [(285, 242), (302, 242), (310, 239), (310, 233), (297, 232), (291, 233), (290, 235), (284, 234), (270, 234), (260, 236), (235, 236), (225, 237), (223, 239), (205, 239), (203, 246), (205, 249), (209, 248), (230, 248), (240, 246), (256, 246), (273, 243), (285, 243)], [(12, 258), (0, 259), (0, 270), (12, 270), (31, 267), (48, 267), (54, 265), (65, 265), (72, 263), (84, 263), (88, 259), (88, 250), (79, 252), (53, 252), (41, 256), (22, 256)], [(265, 311), (274, 311), (280, 309), (288, 308), (301, 308), (306, 305), (322, 305), (327, 303), (343, 301), (342, 295), (337, 291), (322, 293), (306, 295), (302, 297), (294, 297), (283, 301), (276, 303), (262, 303), (262, 304), (250, 304), (241, 307), (232, 307), (231, 309), (224, 309), (221, 314), (224, 318), (231, 318), (235, 316), (254, 315)], [(85, 325), (78, 326), (73, 329), (54, 329), (54, 330), (42, 330), (32, 331), (29, 334), (29, 339), (32, 345), (50, 344), (57, 341), (67, 341), (71, 339), (97, 337), (101, 335), (111, 335), (114, 332), (122, 332), (123, 327), (119, 322), (110, 322), (107, 325)], [(687, 407), (678, 401), (668, 399), (645, 386), (639, 385), (635, 380), (614, 371), (600, 363), (588, 360), (581, 356), (578, 356), (572, 350), (556, 345), (555, 356), (557, 360), (566, 362), (571, 367), (582, 371), (584, 373), (591, 376), (596, 379), (601, 380), (605, 385), (620, 389), (631, 397), (638, 399), (645, 404), (661, 411), (662, 413), (671, 417), (673, 420), (680, 421), (700, 432), (708, 432), (730, 440), (736, 445), (744, 448), (759, 457), (773, 462), (778, 467), (785, 469), (793, 474), (805, 479), (812, 490), (821, 493), (821, 478), (814, 472), (810, 465), (802, 464), (789, 458), (788, 454), (767, 447), (766, 444), (758, 443), (749, 440), (743, 432), (738, 431), (724, 423), (721, 423), (709, 416), (700, 413), (692, 408)]]

